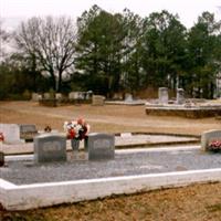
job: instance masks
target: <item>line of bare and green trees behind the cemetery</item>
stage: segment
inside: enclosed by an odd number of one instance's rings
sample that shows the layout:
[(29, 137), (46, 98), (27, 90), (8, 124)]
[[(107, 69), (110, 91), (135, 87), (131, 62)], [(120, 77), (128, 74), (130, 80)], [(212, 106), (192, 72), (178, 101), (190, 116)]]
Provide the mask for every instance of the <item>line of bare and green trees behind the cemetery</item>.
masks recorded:
[(0, 99), (31, 92), (93, 91), (109, 98), (159, 86), (185, 88), (190, 97), (220, 96), (221, 21), (203, 12), (191, 29), (168, 11), (146, 18), (97, 6), (76, 22), (32, 18), (14, 33), (1, 30)]

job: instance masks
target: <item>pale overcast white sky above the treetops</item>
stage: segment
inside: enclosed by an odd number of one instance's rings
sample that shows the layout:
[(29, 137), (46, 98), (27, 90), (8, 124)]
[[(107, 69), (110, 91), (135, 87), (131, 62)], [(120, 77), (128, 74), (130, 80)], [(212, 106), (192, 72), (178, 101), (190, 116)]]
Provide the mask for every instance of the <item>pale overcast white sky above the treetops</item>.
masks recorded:
[(95, 3), (109, 12), (122, 12), (128, 8), (141, 17), (166, 9), (172, 14), (178, 13), (187, 28), (193, 25), (203, 11), (221, 19), (221, 0), (0, 0), (0, 18), (9, 25), (33, 15), (76, 18)]

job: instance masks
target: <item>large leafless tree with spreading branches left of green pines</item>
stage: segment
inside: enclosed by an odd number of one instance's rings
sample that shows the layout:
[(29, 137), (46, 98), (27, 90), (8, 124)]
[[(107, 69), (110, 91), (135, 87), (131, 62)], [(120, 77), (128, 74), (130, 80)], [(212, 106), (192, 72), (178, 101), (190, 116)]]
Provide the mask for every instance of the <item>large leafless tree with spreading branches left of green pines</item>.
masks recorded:
[(71, 19), (32, 18), (22, 22), (15, 33), (18, 49), (34, 59), (41, 72), (48, 72), (54, 91), (61, 91), (62, 78), (74, 61), (75, 28)]

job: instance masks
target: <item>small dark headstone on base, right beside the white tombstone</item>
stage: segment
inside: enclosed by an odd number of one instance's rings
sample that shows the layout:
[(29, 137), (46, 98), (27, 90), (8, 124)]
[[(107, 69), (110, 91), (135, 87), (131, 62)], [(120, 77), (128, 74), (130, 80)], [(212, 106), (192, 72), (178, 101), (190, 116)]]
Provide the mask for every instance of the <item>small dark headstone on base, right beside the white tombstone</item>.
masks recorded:
[(38, 129), (35, 127), (35, 125), (31, 125), (31, 124), (25, 124), (25, 125), (19, 125), (20, 127), (20, 138), (21, 139), (33, 139), (34, 136), (38, 135)]

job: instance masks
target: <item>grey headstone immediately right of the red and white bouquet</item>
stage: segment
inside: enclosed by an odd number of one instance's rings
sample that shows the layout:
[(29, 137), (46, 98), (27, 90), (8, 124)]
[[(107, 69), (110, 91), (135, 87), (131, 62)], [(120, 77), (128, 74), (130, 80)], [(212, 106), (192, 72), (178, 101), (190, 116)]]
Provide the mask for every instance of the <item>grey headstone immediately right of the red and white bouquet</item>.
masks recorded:
[(114, 159), (115, 136), (108, 134), (90, 134), (86, 141), (88, 160)]

